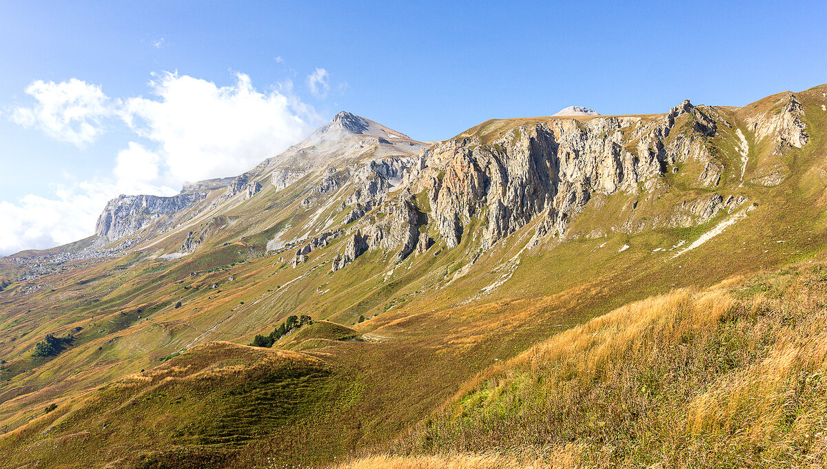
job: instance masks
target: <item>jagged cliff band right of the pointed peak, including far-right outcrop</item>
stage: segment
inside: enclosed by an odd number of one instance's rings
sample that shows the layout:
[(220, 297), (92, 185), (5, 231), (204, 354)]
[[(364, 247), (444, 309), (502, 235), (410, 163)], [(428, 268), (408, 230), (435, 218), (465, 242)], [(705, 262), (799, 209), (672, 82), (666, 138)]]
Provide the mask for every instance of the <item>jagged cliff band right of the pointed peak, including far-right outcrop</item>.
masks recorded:
[[(758, 140), (775, 139), (780, 149), (805, 144), (803, 111), (796, 97), (791, 94), (778, 109), (749, 117), (747, 130)], [(423, 216), (437, 227), (449, 249), (461, 243), (473, 220), (481, 225), (477, 234), (482, 249), (533, 220), (538, 220), (535, 239), (565, 238), (571, 220), (593, 197), (616, 193), (651, 204), (672, 191), (676, 205), (651, 219), (630, 218), (618, 225), (596, 227), (595, 233), (703, 224), (722, 211), (731, 213), (747, 200), (733, 192), (706, 196), (692, 192), (702, 194), (721, 183), (726, 168), (721, 140), (733, 133), (736, 121), (718, 108), (696, 107), (686, 100), (664, 115), (559, 117), (500, 132), (477, 127), (423, 149), (419, 160), (407, 168), (409, 176), (401, 195), (385, 202), (376, 199), (387, 198), (386, 190), (354, 192), (347, 203), (356, 207), (353, 213), (357, 216), (347, 221), (365, 216), (357, 211), (360, 207), (368, 212), (379, 207), (378, 211), (389, 216), (362, 220), (334, 269), (368, 249), (398, 249), (397, 261), (418, 244), (422, 244), (419, 250), (427, 249), (431, 241), (427, 236), (419, 239), (416, 207), (402, 208), (411, 203), (411, 192), (426, 192), (429, 209)], [(746, 152), (740, 147), (736, 150)], [(677, 174), (684, 169), (686, 173)], [(686, 186), (685, 193), (675, 192), (670, 178), (682, 178), (676, 181)], [(637, 206), (634, 201), (631, 211)]]

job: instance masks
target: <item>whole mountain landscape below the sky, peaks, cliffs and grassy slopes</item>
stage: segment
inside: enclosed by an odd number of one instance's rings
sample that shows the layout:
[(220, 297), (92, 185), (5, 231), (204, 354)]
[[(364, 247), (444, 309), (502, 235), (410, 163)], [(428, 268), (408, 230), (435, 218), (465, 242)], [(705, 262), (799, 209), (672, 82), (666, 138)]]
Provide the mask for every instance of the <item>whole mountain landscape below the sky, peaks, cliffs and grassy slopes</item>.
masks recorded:
[[(817, 465), (825, 106), (437, 142), (342, 111), (238, 176), (117, 197), (93, 236), (0, 258), (0, 466)], [(784, 334), (810, 353), (761, 372)], [(772, 376), (800, 398), (739, 392), (786, 414), (687, 417)]]

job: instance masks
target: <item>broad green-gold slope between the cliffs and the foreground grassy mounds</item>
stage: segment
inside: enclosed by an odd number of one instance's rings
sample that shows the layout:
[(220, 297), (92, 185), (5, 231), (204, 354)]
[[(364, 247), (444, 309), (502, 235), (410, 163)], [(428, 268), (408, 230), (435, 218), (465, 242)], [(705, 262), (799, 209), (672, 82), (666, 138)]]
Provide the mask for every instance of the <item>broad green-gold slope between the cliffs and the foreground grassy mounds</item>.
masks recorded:
[[(810, 130), (825, 128), (816, 98), (808, 99), (806, 93), (801, 95)], [(730, 118), (739, 119), (734, 114)], [(25, 424), (39, 418), (50, 402), (63, 405), (79, 399), (112, 379), (151, 369), (159, 358), (191, 344), (250, 343), (253, 335), (268, 334), (287, 315), (309, 314), (316, 320), (349, 325), (360, 334), (392, 338), (342, 343), (323, 337), (307, 343), (318, 347), (313, 353), (336, 370), (332, 376), (359, 386), (354, 388), (354, 405), (334, 410), (337, 415), (331, 417), (335, 422), (331, 431), (342, 440), (336, 452), (394, 438), (495, 358), (513, 357), (562, 329), (672, 287), (704, 288), (734, 273), (772, 268), (823, 252), (827, 246), (825, 144), (820, 132), (810, 135), (810, 144), (791, 153), (792, 175), (781, 187), (746, 183), (739, 188), (759, 204), (758, 209), (714, 241), (672, 260), (667, 260), (672, 253), (653, 253), (653, 249), (681, 239), (691, 242), (724, 216), (695, 229), (609, 234), (603, 239), (575, 237), (562, 244), (555, 239), (524, 251), (509, 282), (485, 294), (480, 288), (504, 275), (500, 266), (523, 248), (533, 225), (483, 253), (470, 272), (453, 282), (455, 272), (477, 252), (472, 236), (465, 236), (458, 249), (444, 249), (437, 243), (427, 253), (395, 266), (390, 264), (393, 253), (366, 253), (346, 269), (330, 273), (342, 239), (313, 251), (308, 263), (293, 269), (287, 265), (289, 252), (284, 259), (256, 253), (281, 223), (256, 218), (255, 229), (231, 225), (235, 234), (210, 238), (198, 255), (177, 261), (135, 254), (43, 277), (31, 284), (45, 287), (33, 291), (13, 285), (0, 294), (0, 358), (9, 361), (6, 371), (0, 371), (0, 377), (9, 380), (0, 383), (0, 423), (11, 428)], [(765, 150), (750, 135), (748, 139), (751, 152)], [(680, 183), (672, 181), (674, 186)], [(734, 191), (736, 183), (726, 182), (729, 186), (716, 190)], [(664, 197), (677, 200), (680, 195), (676, 190)], [(298, 211), (298, 193), (262, 192), (261, 196), (251, 199), (255, 206), (244, 210), (272, 208), (282, 221), (284, 214)], [(617, 207), (631, 199), (622, 194), (612, 197), (603, 209), (594, 211), (595, 220), (605, 220), (607, 225), (624, 220)], [(653, 211), (660, 210), (658, 203)], [(249, 215), (238, 210), (231, 215)], [(308, 216), (299, 213), (289, 219), (297, 234), (301, 220)], [(270, 231), (255, 234), (259, 229)], [(240, 239), (242, 235), (246, 238)], [(232, 244), (222, 246), (225, 242)], [(170, 240), (170, 247), (179, 243)], [(619, 253), (624, 244), (631, 247)], [(720, 255), (734, 252), (739, 255)], [(716, 262), (710, 265), (709, 258)], [(213, 283), (217, 289), (209, 288)], [(183, 306), (175, 309), (176, 301)], [(359, 315), (370, 319), (356, 325)], [(54, 359), (30, 357), (43, 335), (65, 334), (74, 327), (84, 329), (73, 348)], [(289, 339), (283, 339), (288, 342), (284, 346), (293, 348)], [(95, 419), (91, 416), (89, 424)], [(276, 452), (268, 441), (256, 443), (264, 445), (256, 454)], [(313, 441), (324, 442), (323, 438)], [(129, 453), (143, 451), (123, 448)]]

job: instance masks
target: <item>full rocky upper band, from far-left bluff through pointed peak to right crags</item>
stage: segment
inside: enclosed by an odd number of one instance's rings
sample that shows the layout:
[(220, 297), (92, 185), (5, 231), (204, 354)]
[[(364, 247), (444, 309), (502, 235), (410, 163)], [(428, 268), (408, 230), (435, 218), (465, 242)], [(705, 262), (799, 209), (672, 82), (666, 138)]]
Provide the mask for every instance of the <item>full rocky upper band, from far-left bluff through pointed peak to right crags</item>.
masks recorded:
[[(614, 195), (625, 197), (621, 211), (631, 215), (619, 219), (605, 212), (580, 234), (690, 227), (741, 206), (746, 197), (737, 189), (744, 182), (776, 185), (785, 178), (779, 155), (806, 144), (804, 109), (792, 93), (772, 98), (754, 110), (686, 100), (648, 116), (600, 116), (572, 108), (563, 113), (571, 115), (486, 121), (429, 145), (340, 112), (251, 171), (189, 190), (216, 192), (208, 206), (213, 216), (232, 199), (234, 213), (246, 214), (233, 220), (256, 217), (262, 229), (294, 220), (268, 246), (337, 230), (347, 242), (333, 270), (370, 249), (392, 251), (397, 262), (440, 240), (453, 249), (472, 226), (475, 249), (489, 249), (534, 222), (535, 244), (544, 237), (567, 239), (581, 212), (607, 210), (600, 207)], [(745, 135), (761, 148), (772, 140), (776, 160), (755, 155)], [(755, 168), (748, 171), (748, 163)], [(263, 192), (262, 182), (275, 190)], [(256, 196), (259, 192), (264, 195)], [(667, 194), (653, 211), (654, 202)], [(109, 203), (96, 232), (117, 239), (205, 197), (206, 192), (122, 196)], [(185, 233), (180, 246), (191, 251), (203, 237)]]

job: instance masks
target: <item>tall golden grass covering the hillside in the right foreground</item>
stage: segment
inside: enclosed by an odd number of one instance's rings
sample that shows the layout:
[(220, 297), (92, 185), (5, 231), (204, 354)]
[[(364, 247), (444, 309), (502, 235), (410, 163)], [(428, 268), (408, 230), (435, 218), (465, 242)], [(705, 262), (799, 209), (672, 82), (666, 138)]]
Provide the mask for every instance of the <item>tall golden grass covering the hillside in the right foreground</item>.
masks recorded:
[[(557, 334), (480, 373), (370, 467), (533, 467), (496, 459), (528, 450), (568, 467), (825, 467), (822, 272), (672, 291)], [(501, 465), (439, 456), (474, 454)]]

